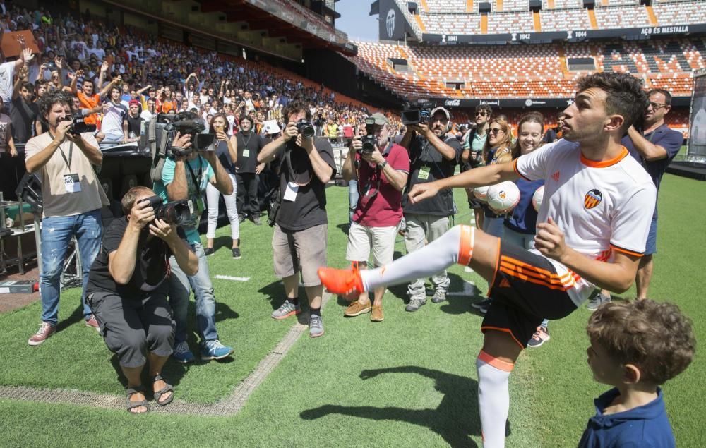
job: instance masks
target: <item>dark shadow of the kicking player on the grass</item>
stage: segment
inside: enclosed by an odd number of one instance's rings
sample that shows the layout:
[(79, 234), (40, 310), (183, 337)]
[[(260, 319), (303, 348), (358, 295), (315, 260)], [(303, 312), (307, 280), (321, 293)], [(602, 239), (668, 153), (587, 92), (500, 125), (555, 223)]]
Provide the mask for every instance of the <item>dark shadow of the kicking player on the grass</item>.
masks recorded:
[(480, 435), (478, 413), (478, 383), (468, 377), (441, 370), (402, 365), (400, 367), (363, 370), (361, 380), (369, 380), (383, 373), (414, 373), (436, 380), (436, 390), (444, 394), (436, 409), (376, 408), (373, 406), (339, 406), (326, 404), (302, 411), (304, 420), (316, 420), (330, 414), (369, 418), (370, 420), (397, 420), (429, 428), (443, 437), (452, 447), (477, 447), (469, 435)]

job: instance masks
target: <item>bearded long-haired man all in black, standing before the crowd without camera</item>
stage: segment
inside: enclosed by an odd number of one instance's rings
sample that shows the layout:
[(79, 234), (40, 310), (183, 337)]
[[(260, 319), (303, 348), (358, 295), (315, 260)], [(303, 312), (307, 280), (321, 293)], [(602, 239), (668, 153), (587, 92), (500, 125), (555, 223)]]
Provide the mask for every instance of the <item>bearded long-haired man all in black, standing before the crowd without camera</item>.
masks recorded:
[(237, 210), (240, 222), (247, 217), (253, 224), (260, 226), (260, 202), (258, 202), (258, 174), (265, 164), (258, 163), (258, 154), (265, 147), (265, 139), (253, 132), (253, 119), (242, 116), (240, 132), (237, 133), (238, 160), (235, 163), (237, 179)]

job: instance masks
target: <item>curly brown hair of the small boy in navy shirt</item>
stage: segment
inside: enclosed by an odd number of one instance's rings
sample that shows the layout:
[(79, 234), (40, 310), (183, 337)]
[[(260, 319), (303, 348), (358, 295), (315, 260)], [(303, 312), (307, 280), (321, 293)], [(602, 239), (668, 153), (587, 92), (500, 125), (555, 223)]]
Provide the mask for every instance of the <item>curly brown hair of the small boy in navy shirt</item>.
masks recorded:
[(690, 319), (672, 303), (649, 299), (601, 305), (586, 332), (614, 361), (639, 368), (640, 381), (655, 385), (682, 373), (696, 349)]

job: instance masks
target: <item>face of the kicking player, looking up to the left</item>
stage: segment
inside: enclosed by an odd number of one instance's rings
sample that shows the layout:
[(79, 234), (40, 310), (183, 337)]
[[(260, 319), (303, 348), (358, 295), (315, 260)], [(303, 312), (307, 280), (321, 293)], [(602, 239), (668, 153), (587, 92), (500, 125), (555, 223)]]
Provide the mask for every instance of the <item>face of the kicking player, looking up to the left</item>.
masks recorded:
[(564, 110), (563, 138), (570, 142), (600, 138), (611, 121), (606, 112), (606, 92), (597, 87), (578, 92), (576, 101)]

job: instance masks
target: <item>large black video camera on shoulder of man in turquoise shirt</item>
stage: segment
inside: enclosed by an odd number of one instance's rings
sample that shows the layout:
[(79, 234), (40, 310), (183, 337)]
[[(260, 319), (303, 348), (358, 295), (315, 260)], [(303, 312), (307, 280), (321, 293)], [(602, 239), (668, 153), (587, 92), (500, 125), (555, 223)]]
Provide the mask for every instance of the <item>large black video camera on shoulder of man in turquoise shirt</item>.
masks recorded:
[[(167, 157), (184, 157), (193, 151), (213, 151), (215, 134), (203, 133), (206, 128), (203, 120), (193, 112), (179, 112), (179, 114), (158, 114), (155, 118), (155, 140), (161, 142), (165, 139)], [(166, 134), (165, 134), (166, 133)], [(191, 135), (191, 147), (172, 147), (172, 142), (177, 133)], [(140, 146), (150, 147), (149, 135), (143, 133)]]

